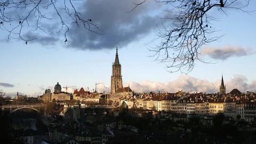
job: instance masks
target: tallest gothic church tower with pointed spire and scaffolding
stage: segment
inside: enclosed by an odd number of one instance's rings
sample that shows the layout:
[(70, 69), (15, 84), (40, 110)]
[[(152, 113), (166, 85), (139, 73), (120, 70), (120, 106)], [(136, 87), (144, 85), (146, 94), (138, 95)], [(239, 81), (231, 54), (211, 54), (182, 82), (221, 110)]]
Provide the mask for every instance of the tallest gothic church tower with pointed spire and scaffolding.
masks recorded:
[(123, 88), (123, 80), (121, 75), (121, 65), (118, 59), (118, 52), (116, 47), (116, 58), (112, 65), (112, 76), (111, 76), (111, 94), (116, 93), (118, 88)]

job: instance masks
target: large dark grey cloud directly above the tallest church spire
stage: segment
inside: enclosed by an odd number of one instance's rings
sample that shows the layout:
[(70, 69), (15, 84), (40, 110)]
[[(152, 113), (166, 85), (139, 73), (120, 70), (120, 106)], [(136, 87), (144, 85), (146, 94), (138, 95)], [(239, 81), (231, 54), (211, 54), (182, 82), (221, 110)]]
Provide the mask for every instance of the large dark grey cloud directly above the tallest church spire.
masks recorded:
[(68, 33), (68, 47), (83, 50), (113, 49), (137, 41), (155, 29), (160, 21), (155, 15), (150, 15), (149, 11), (154, 13), (154, 10), (159, 10), (158, 5), (147, 1), (133, 12), (126, 13), (133, 9), (133, 1), (85, 1), (79, 10), (82, 11), (83, 17), (92, 19), (103, 31), (93, 30), (104, 35), (72, 25)]

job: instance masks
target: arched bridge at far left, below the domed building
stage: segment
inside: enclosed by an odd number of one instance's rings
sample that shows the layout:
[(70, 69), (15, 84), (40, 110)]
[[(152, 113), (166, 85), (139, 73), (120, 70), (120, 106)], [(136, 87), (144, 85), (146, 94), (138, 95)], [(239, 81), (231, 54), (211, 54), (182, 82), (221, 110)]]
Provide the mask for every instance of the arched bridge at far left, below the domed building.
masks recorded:
[(5, 105), (5, 106), (0, 106), (0, 108), (2, 108), (2, 110), (9, 109), (10, 113), (13, 113), (16, 110), (25, 109), (25, 108), (33, 109), (39, 113), (39, 109), (40, 108), (45, 109), (45, 107), (46, 107), (46, 105), (44, 105), (44, 104), (42, 104), (42, 105)]

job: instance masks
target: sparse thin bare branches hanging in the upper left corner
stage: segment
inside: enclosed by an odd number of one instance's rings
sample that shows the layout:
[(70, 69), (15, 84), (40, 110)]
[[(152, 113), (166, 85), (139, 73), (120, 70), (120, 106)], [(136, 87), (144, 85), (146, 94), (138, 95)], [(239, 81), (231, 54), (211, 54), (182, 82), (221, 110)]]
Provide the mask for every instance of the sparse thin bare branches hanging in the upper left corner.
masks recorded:
[(81, 3), (83, 1), (77, 0), (0, 0), (0, 28), (8, 32), (8, 41), (10, 38), (18, 38), (26, 41), (26, 44), (40, 37), (26, 37), (26, 33), (43, 31), (52, 34), (54, 30), (48, 31), (46, 26), (54, 25), (47, 23), (53, 20), (61, 23), (55, 33), (63, 31), (65, 42), (70, 25), (84, 27), (101, 35), (92, 18), (84, 18), (77, 10), (76, 7), (81, 6)]

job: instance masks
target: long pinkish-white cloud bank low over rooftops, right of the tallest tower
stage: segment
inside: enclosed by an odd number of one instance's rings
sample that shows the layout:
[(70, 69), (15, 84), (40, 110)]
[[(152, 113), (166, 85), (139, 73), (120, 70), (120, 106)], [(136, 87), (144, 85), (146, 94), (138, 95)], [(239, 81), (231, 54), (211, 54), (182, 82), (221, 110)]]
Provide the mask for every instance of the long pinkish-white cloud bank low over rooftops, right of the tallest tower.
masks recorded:
[[(221, 79), (215, 82), (209, 82), (205, 79), (198, 79), (195, 77), (191, 77), (188, 75), (179, 76), (178, 79), (172, 82), (150, 82), (150, 81), (143, 81), (140, 83), (137, 82), (126, 82), (123, 84), (124, 87), (128, 86), (130, 83), (130, 87), (135, 92), (150, 92), (150, 91), (161, 91), (161, 92), (178, 92), (178, 91), (185, 91), (185, 92), (206, 92), (206, 93), (217, 93), (219, 92), (219, 86), (221, 83)], [(243, 75), (234, 75), (230, 81), (225, 81), (227, 92), (237, 88), (241, 92), (246, 91), (256, 91), (256, 81), (252, 83), (248, 83), (247, 78)]]

